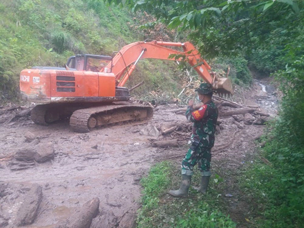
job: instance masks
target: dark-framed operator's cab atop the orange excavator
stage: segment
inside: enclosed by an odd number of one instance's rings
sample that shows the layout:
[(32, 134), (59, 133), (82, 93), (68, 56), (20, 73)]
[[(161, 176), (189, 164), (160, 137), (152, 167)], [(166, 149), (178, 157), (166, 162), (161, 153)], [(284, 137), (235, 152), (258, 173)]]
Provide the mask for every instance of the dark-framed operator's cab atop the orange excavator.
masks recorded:
[(78, 71), (93, 71), (111, 73), (111, 69), (105, 67), (112, 61), (111, 56), (79, 54), (71, 56), (67, 60), (67, 67), (77, 69)]

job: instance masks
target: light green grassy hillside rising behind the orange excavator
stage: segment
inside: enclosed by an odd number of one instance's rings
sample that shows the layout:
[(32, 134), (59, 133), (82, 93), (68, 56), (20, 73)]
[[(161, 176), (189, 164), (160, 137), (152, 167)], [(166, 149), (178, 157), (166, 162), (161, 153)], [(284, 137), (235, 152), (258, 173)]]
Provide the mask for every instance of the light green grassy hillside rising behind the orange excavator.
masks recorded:
[[(140, 23), (145, 19), (144, 14), (140, 16)], [(19, 74), (24, 68), (63, 66), (74, 54), (111, 55), (128, 43), (148, 38), (151, 34), (136, 29), (136, 21), (139, 18), (127, 10), (102, 1), (1, 1), (0, 100), (18, 99)], [(169, 39), (167, 34), (164, 38)], [(155, 65), (159, 66), (156, 71)], [(176, 66), (157, 61), (139, 64), (133, 81), (140, 78), (146, 85), (137, 94), (179, 88), (170, 68)]]

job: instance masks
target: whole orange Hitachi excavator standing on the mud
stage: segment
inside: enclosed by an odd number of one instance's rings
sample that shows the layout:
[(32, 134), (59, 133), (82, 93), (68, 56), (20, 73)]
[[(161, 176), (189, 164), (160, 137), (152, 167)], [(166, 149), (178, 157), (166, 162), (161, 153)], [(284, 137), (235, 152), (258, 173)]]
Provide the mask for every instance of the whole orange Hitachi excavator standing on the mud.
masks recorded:
[[(182, 51), (172, 47), (181, 47)], [(180, 58), (169, 58), (170, 55)], [(230, 80), (209, 73), (210, 66), (191, 43), (135, 42), (124, 46), (114, 57), (80, 54), (70, 57), (65, 67), (22, 70), (22, 98), (40, 103), (32, 109), (31, 119), (47, 125), (69, 118), (71, 128), (77, 132), (89, 132), (111, 123), (150, 119), (153, 109), (128, 102), (130, 91), (123, 87), (141, 58), (185, 58), (218, 93), (233, 93)]]

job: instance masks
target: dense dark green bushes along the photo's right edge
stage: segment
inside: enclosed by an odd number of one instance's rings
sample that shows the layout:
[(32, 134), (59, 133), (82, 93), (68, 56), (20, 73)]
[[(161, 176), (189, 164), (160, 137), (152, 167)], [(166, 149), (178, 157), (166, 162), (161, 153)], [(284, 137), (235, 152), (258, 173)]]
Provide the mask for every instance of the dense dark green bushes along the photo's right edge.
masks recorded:
[(279, 117), (266, 136), (264, 156), (247, 173), (246, 191), (261, 204), (261, 227), (301, 227), (304, 220), (304, 56), (276, 73), (283, 98)]

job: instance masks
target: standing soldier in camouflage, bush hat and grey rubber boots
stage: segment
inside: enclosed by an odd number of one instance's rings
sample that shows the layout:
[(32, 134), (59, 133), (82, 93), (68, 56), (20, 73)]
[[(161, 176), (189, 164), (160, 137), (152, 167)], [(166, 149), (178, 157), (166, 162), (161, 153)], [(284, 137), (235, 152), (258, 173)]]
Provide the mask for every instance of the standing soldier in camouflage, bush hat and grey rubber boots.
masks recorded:
[(185, 158), (181, 162), (182, 181), (178, 190), (170, 190), (170, 194), (176, 197), (185, 197), (188, 195), (193, 167), (198, 163), (198, 168), (201, 171), (201, 184), (199, 187), (194, 187), (201, 193), (206, 193), (209, 184), (211, 148), (214, 145), (214, 134), (216, 129), (216, 120), (218, 110), (212, 101), (212, 86), (207, 83), (201, 83), (198, 92), (199, 100), (203, 105), (198, 109), (193, 109), (193, 101), (188, 102), (186, 117), (189, 122), (193, 122), (193, 130), (191, 135), (191, 144)]

